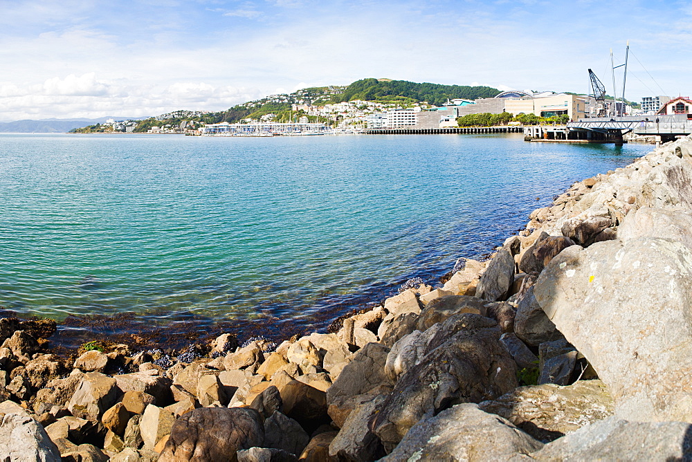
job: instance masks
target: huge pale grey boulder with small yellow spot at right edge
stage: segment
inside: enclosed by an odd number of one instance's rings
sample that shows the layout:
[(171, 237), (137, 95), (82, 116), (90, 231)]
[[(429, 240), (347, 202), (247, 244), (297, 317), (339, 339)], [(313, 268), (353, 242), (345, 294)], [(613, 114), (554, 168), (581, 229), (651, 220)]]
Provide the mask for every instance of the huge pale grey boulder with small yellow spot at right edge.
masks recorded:
[(692, 250), (636, 238), (567, 248), (534, 295), (638, 421), (692, 422)]

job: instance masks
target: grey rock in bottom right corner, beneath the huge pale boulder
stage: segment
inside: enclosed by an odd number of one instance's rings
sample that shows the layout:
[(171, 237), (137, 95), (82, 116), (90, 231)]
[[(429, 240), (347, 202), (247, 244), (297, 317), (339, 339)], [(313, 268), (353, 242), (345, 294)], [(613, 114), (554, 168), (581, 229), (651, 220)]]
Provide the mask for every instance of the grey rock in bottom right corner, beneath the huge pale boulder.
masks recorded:
[(692, 425), (628, 422), (610, 417), (558, 438), (531, 454), (537, 461), (689, 461)]

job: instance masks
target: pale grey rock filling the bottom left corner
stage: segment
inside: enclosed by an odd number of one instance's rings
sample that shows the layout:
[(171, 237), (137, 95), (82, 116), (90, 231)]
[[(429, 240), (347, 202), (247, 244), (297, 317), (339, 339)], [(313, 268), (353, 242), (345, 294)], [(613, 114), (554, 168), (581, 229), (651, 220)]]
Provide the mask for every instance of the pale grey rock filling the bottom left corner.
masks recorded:
[(19, 414), (0, 416), (0, 456), (8, 461), (60, 461), (60, 452), (44, 428)]

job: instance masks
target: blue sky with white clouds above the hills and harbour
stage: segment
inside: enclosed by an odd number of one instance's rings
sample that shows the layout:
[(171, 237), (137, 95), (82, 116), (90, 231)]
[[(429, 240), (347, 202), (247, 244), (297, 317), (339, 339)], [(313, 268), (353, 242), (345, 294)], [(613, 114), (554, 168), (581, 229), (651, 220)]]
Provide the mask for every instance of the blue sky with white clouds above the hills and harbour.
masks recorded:
[[(219, 111), (365, 77), (691, 95), (692, 2), (0, 0), (0, 121)], [(623, 68), (617, 69), (618, 96)]]

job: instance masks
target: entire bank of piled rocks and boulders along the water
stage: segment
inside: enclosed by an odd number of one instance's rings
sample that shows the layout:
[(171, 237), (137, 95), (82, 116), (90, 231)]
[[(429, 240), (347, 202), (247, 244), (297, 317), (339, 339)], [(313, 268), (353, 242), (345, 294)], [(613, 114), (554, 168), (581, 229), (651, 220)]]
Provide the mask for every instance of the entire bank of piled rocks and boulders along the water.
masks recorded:
[(279, 345), (65, 358), (55, 324), (1, 319), (0, 457), (692, 459), (691, 185), (682, 138), (575, 183), (444, 286)]

